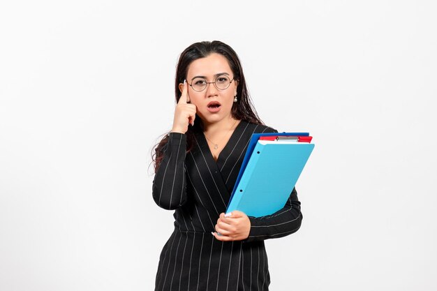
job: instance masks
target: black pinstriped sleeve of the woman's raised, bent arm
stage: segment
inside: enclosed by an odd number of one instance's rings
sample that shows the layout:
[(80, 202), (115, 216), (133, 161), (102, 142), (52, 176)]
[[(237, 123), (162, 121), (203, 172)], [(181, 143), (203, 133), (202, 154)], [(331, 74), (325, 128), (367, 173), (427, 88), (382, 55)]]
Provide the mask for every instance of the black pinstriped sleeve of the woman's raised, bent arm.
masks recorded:
[(186, 135), (170, 133), (163, 160), (155, 173), (152, 195), (163, 209), (177, 209), (186, 202)]

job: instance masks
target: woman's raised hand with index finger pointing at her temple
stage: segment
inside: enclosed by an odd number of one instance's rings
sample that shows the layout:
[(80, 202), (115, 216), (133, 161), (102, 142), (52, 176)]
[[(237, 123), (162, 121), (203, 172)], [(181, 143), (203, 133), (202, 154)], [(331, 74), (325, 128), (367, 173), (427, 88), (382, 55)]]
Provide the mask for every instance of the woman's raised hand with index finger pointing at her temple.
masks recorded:
[(190, 103), (188, 98), (188, 84), (184, 81), (182, 95), (175, 108), (175, 118), (173, 119), (172, 133), (186, 133), (188, 124), (194, 125), (196, 107)]

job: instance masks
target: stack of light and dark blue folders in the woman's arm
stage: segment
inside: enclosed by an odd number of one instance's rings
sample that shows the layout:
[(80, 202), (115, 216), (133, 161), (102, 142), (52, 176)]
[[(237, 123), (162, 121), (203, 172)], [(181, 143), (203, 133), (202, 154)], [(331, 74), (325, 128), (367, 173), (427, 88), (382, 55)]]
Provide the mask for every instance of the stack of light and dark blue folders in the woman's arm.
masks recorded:
[(253, 134), (226, 213), (239, 210), (260, 217), (283, 208), (314, 148), (314, 144), (307, 142), (258, 140), (266, 135), (308, 136), (309, 133)]

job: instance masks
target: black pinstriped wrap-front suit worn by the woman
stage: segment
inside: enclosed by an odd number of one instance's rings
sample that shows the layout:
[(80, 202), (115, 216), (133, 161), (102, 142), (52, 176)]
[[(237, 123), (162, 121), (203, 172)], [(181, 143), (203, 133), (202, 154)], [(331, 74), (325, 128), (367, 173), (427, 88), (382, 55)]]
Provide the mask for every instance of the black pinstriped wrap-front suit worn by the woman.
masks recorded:
[(214, 232), (225, 212), (252, 133), (276, 132), (240, 121), (214, 161), (202, 132), (186, 154), (186, 135), (170, 133), (164, 158), (154, 177), (153, 197), (160, 207), (175, 209), (175, 231), (165, 244), (156, 274), (156, 291), (268, 290), (270, 277), (264, 239), (297, 231), (302, 214), (293, 189), (283, 209), (249, 217), (244, 241), (218, 241)]

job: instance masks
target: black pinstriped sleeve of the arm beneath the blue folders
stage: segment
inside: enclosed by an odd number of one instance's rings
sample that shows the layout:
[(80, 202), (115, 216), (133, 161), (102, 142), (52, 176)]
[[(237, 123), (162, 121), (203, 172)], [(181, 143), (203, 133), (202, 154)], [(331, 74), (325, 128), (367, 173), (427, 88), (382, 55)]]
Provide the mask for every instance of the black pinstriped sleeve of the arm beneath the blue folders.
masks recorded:
[(256, 218), (249, 216), (249, 220), (251, 221), (251, 231), (249, 237), (244, 241), (274, 239), (297, 232), (302, 223), (302, 213), (296, 189), (293, 188), (286, 205), (279, 211), (269, 216)]

